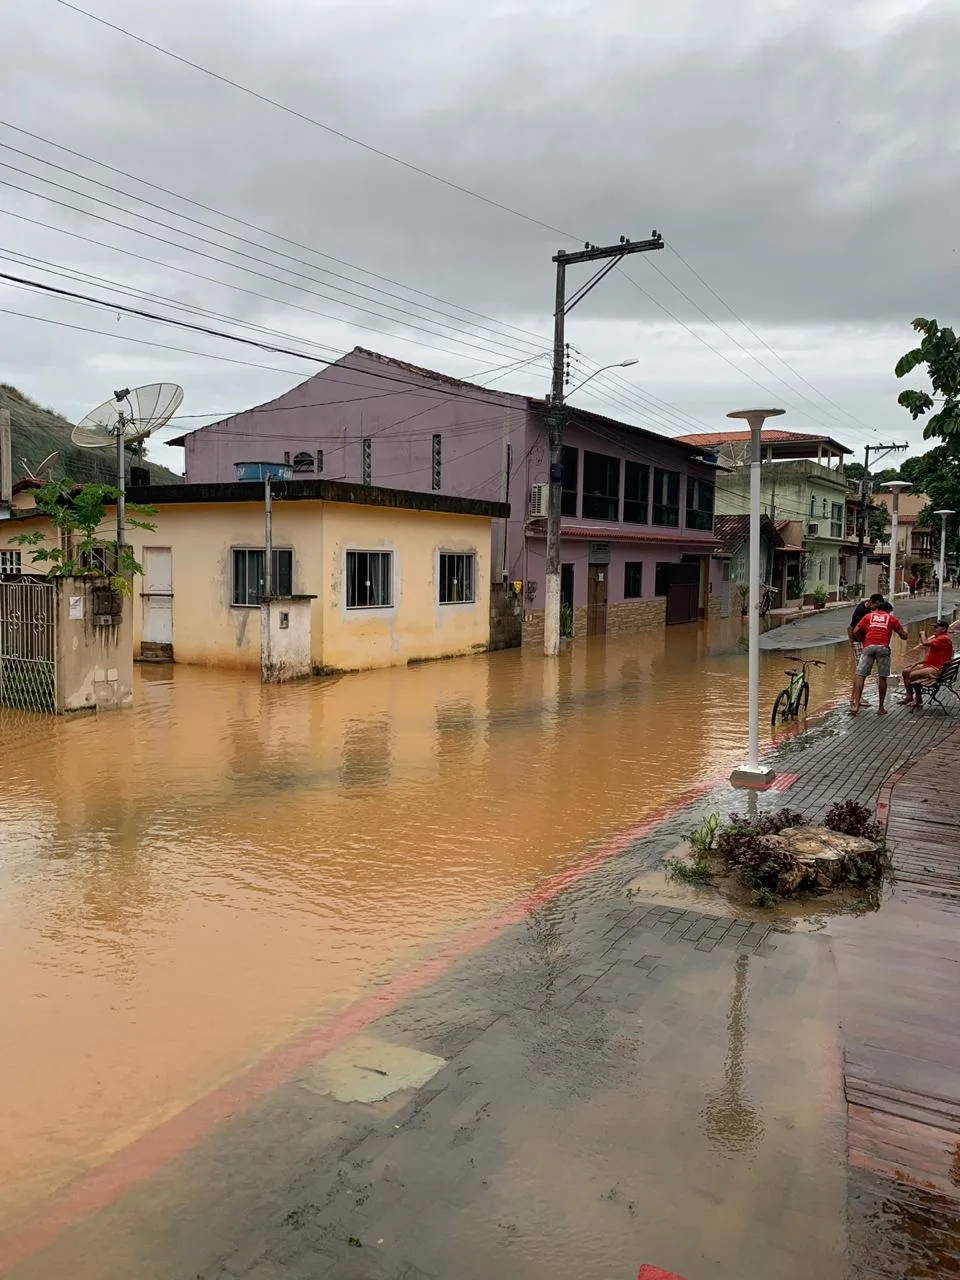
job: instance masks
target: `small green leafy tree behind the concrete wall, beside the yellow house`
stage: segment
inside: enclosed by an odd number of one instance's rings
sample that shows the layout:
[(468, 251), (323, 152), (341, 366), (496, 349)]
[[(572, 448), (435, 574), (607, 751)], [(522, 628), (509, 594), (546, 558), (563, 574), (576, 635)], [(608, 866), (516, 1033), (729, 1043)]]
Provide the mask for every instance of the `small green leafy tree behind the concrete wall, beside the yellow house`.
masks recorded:
[[(108, 503), (115, 503), (119, 497), (120, 490), (109, 484), (74, 485), (69, 480), (51, 480), (42, 489), (37, 489), (35, 502), (41, 515), (47, 516), (60, 535), (59, 545), (45, 547), (46, 532), (42, 529), (19, 534), (10, 541), (35, 548), (32, 552), (35, 563), (47, 564), (47, 573), (51, 577), (102, 573), (104, 557), (99, 557), (97, 552), (113, 553), (116, 572), (113, 575), (111, 585), (118, 591), (129, 591), (129, 579), (134, 573), (143, 572), (133, 549), (127, 545), (118, 547), (116, 541), (97, 536), (100, 526), (106, 520)], [(127, 504), (127, 524), (132, 529), (151, 531), (156, 529), (156, 525), (137, 518), (152, 515), (155, 515), (152, 507)]]

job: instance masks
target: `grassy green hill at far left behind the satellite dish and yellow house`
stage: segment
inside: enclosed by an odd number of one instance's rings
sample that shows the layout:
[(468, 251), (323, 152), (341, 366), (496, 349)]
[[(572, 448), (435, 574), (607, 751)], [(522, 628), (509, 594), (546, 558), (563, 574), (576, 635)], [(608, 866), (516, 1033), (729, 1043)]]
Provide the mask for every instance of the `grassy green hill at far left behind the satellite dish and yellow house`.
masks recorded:
[[(55, 480), (68, 479), (81, 483), (99, 480), (102, 484), (116, 484), (114, 451), (81, 449), (72, 444), (73, 424), (54, 410), (42, 408), (15, 387), (8, 387), (5, 383), (0, 383), (0, 408), (10, 411), (14, 481), (23, 480), (27, 475), (37, 475), (40, 463), (51, 453), (59, 452), (59, 457), (44, 467), (41, 479), (46, 480), (52, 474)], [(131, 458), (128, 449), (128, 480), (131, 461), (137, 465), (137, 458)], [(151, 462), (148, 457), (143, 458), (143, 466), (150, 468), (151, 484), (183, 484), (183, 476), (161, 467), (157, 462)]]

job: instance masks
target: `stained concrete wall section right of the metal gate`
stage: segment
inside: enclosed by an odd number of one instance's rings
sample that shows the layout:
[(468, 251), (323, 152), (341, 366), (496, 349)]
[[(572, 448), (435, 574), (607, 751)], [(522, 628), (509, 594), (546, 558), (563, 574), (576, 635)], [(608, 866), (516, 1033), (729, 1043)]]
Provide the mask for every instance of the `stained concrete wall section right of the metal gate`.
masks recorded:
[[(63, 577), (56, 580), (56, 612), (58, 710), (129, 707), (133, 703), (131, 596), (113, 591), (109, 579)], [(108, 616), (114, 620), (110, 625), (97, 621)]]

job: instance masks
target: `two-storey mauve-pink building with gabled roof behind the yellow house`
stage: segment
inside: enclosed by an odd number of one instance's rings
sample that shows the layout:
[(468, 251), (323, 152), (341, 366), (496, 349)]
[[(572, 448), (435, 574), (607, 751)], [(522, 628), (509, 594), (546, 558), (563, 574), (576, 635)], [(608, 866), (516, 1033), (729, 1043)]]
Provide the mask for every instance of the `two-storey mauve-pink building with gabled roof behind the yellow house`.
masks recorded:
[[(276, 399), (172, 442), (189, 484), (236, 463), (507, 502), (494, 532), (494, 608), (522, 584), (524, 640), (543, 634), (547, 404), (417, 369), (362, 347)], [(562, 521), (564, 625), (576, 635), (705, 617), (717, 600), (716, 467), (681, 443), (567, 407)], [(513, 612), (516, 605), (513, 605)]]

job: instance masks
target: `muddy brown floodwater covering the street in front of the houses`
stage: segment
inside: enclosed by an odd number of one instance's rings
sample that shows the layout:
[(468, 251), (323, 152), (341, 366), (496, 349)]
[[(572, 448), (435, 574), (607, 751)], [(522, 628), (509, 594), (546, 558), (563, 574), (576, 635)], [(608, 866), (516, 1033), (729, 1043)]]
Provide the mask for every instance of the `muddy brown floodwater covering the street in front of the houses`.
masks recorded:
[[(0, 710), (0, 1225), (727, 769), (723, 627), (292, 687), (142, 667), (129, 712)], [(812, 655), (813, 712), (850, 653)]]

